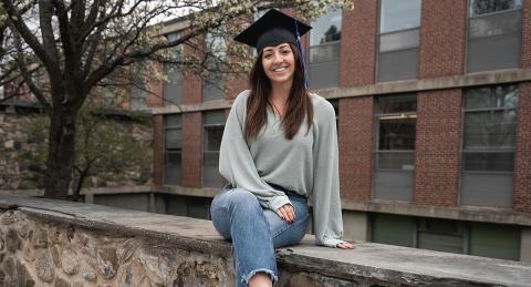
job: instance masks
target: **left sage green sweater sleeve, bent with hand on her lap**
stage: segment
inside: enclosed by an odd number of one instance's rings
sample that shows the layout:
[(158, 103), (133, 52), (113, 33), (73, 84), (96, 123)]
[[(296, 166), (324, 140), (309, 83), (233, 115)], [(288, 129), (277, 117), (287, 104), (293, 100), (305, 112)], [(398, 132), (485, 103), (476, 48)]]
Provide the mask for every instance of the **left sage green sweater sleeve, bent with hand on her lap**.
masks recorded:
[(248, 91), (238, 95), (230, 109), (219, 151), (219, 173), (237, 188), (257, 196), (264, 208), (273, 212), (291, 204), (288, 196), (272, 188), (258, 174), (251, 152), (243, 139)]

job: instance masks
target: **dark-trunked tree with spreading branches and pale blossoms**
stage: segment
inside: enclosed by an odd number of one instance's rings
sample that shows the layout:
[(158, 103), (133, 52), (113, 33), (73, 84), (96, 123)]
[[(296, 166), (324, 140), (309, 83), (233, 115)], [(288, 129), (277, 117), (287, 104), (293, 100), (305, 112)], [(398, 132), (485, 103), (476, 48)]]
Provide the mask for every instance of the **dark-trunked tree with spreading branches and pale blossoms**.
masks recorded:
[[(198, 44), (201, 37), (222, 27), (218, 30), (231, 39), (241, 30), (235, 23), (249, 22), (258, 9), (291, 8), (314, 19), (330, 7), (352, 7), (348, 0), (0, 0), (0, 27), (6, 28), (2, 34), (9, 34), (7, 44), (14, 51), (9, 59), (3, 55), (0, 63), (15, 64), (24, 85), (50, 119), (46, 197), (67, 195), (79, 112), (88, 98), (95, 96), (96, 86), (113, 84), (108, 79), (153, 69), (156, 61), (198, 74), (205, 74), (206, 69), (242, 72), (249, 66), (247, 48), (229, 45), (227, 54), (231, 57), (226, 59), (231, 61), (230, 65), (225, 60), (219, 65), (206, 65), (204, 59), (209, 51)], [(181, 17), (186, 29), (179, 37), (167, 40), (160, 37), (164, 24), (157, 22), (175, 16)], [(173, 57), (168, 49), (177, 45), (201, 50), (197, 54), (205, 57)], [(34, 82), (31, 71), (37, 69), (44, 71), (46, 84)]]

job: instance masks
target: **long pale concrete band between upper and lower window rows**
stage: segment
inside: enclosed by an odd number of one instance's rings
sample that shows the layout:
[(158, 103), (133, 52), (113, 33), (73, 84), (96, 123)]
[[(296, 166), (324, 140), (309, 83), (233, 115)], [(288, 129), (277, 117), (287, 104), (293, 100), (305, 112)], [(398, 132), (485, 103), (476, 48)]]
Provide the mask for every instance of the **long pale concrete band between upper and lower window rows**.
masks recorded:
[[(404, 81), (391, 81), (376, 84), (356, 85), (352, 88), (332, 88), (315, 90), (317, 94), (326, 99), (341, 99), (353, 96), (366, 96), (376, 94), (415, 93), (431, 90), (461, 89), (488, 84), (503, 84), (531, 81), (529, 69), (507, 69), (488, 72), (478, 72), (462, 75), (439, 76), (430, 79), (415, 79)], [(229, 109), (232, 100), (217, 100), (204, 103), (169, 105), (154, 107), (154, 114), (171, 114), (200, 112), (210, 110)]]

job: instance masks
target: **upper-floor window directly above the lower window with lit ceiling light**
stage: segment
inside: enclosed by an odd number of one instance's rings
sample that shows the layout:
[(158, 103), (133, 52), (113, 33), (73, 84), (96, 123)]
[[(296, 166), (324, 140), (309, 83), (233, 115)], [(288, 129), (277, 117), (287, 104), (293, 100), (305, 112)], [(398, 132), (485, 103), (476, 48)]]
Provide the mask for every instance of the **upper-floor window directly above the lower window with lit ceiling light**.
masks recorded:
[(420, 0), (381, 0), (378, 82), (418, 75)]

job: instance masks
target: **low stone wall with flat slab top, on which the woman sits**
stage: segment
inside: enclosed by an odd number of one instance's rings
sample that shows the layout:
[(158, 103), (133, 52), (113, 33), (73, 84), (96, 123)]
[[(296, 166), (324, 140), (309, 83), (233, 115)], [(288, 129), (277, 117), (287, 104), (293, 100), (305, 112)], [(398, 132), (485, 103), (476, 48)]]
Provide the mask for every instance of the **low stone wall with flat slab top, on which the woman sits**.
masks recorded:
[[(357, 243), (277, 250), (279, 286), (529, 286), (531, 266)], [(0, 195), (0, 286), (233, 286), (208, 221)]]

